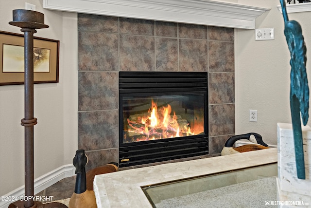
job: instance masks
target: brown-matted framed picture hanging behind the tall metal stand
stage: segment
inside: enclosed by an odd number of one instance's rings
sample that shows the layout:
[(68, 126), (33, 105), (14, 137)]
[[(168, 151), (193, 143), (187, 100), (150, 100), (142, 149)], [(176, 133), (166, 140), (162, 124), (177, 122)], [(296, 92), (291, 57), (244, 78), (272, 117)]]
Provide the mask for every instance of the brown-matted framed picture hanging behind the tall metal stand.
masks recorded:
[[(24, 35), (0, 31), (0, 85), (24, 84)], [(59, 40), (34, 37), (34, 82), (58, 82)]]

